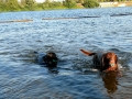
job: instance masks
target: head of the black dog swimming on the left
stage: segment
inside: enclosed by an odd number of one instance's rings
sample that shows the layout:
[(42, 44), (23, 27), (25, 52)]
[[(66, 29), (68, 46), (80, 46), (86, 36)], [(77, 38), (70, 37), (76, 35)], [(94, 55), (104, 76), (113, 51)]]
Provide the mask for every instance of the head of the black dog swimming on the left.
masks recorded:
[(56, 67), (57, 66), (57, 56), (55, 53), (50, 52), (44, 57), (43, 61), (48, 67)]

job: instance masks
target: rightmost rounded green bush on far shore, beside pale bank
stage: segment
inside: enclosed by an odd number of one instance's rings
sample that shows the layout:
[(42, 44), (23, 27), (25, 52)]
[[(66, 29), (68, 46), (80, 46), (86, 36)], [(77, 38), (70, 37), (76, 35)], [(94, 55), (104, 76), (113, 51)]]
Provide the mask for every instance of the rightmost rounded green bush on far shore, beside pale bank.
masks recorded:
[(84, 0), (82, 6), (85, 8), (97, 8), (99, 7), (99, 2), (97, 0)]

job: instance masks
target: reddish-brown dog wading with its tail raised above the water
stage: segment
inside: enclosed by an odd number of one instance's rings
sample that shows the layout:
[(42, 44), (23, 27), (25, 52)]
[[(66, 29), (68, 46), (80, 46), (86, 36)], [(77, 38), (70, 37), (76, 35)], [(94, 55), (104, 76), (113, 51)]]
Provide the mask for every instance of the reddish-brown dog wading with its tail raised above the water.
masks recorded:
[(118, 56), (113, 52), (98, 52), (91, 53), (89, 51), (80, 50), (85, 55), (94, 56), (92, 62), (94, 65), (100, 72), (111, 72), (119, 70), (118, 66)]

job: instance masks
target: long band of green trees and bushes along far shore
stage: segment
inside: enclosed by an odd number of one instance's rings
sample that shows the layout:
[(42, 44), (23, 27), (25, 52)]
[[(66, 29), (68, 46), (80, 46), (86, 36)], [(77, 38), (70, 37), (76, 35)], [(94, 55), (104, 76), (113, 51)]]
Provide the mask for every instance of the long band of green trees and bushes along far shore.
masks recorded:
[[(36, 11), (50, 9), (74, 9), (74, 8), (97, 8), (99, 2), (110, 1), (132, 1), (132, 0), (64, 0), (51, 1), (45, 0), (43, 3), (37, 3), (35, 0), (0, 0), (0, 12), (2, 11)], [(80, 3), (81, 7), (77, 7)]]

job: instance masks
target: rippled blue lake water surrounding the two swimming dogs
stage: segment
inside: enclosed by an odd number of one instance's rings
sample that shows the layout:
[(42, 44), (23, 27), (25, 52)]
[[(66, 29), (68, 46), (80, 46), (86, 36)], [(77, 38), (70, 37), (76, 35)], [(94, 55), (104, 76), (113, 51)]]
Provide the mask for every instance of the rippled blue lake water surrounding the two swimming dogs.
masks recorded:
[[(132, 8), (0, 13), (0, 22), (33, 20), (0, 23), (0, 99), (131, 99), (131, 13)], [(102, 78), (80, 48), (113, 51), (122, 77)], [(58, 73), (35, 63), (34, 51), (55, 52)]]

